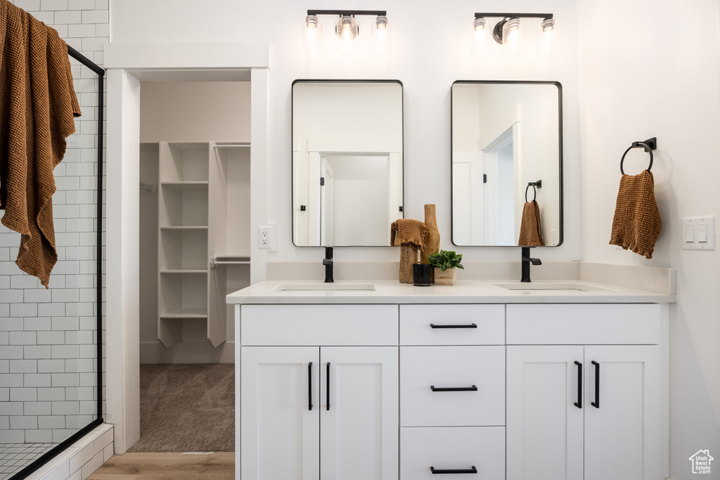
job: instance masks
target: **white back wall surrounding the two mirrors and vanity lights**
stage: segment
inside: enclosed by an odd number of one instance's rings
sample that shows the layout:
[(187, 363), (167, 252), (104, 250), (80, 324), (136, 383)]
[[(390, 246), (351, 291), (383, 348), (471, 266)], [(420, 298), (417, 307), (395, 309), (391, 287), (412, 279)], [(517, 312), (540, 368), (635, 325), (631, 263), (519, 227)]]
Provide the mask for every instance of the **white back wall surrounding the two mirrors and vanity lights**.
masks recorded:
[[(397, 78), (405, 86), (405, 216), (423, 219), (424, 204), (436, 204), (441, 247), (450, 244), (450, 86), (458, 79), (557, 80), (564, 86), (566, 194), (580, 198), (577, 130), (577, 52), (575, 2), (517, 0), (517, 11), (549, 11), (570, 39), (560, 42), (554, 59), (539, 58), (531, 48), (519, 58), (499, 52), (487, 58), (469, 54), (469, 35), (476, 1), (448, 4), (387, 0), (393, 27), (392, 52), (369, 52), (362, 35), (359, 52), (344, 57), (333, 45), (333, 17), (322, 17), (325, 50), (303, 53), (300, 32), (307, 9), (351, 8), (335, 1), (236, 2), (178, 0), (172, 9), (159, 0), (123, 0), (112, 4), (112, 42), (242, 42), (270, 43), (269, 72), (269, 222), (278, 225), (278, 251), (269, 261), (315, 261), (320, 248), (296, 248), (291, 240), (290, 89), (297, 78)], [(482, 9), (505, 11), (507, 1), (487, 1)], [(139, 14), (138, 12), (142, 12)], [(369, 32), (369, 17), (359, 17)], [(562, 25), (562, 27), (561, 27)], [(531, 40), (532, 35), (528, 35)], [(538, 254), (544, 260), (578, 260), (582, 253), (580, 203), (567, 202), (565, 245)], [(518, 248), (463, 248), (468, 260), (516, 260)], [(338, 248), (336, 260), (397, 261), (397, 248)]]

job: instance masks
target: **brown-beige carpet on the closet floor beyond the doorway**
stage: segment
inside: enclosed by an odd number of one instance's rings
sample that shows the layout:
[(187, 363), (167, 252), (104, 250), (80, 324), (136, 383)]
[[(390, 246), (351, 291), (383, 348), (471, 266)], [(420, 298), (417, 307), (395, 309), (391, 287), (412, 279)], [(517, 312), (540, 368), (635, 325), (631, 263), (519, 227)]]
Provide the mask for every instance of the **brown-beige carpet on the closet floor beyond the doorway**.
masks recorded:
[(235, 451), (235, 366), (140, 365), (140, 440), (127, 451)]

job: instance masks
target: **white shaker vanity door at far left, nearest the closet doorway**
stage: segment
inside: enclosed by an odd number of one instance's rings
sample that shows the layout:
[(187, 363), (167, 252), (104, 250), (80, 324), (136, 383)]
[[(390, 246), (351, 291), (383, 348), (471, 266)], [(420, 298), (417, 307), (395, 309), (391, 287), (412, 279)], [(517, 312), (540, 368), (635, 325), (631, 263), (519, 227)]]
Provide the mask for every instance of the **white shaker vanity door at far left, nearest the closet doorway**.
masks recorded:
[(318, 480), (319, 360), (318, 347), (240, 349), (242, 479)]

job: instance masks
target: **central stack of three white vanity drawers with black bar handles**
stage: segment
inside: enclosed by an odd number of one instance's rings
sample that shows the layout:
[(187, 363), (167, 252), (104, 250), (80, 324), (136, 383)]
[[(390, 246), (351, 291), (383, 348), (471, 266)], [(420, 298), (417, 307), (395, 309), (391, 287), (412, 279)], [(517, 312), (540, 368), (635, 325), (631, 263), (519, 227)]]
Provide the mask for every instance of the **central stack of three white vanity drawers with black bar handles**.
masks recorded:
[(505, 306), (400, 305), (400, 479), (505, 479)]

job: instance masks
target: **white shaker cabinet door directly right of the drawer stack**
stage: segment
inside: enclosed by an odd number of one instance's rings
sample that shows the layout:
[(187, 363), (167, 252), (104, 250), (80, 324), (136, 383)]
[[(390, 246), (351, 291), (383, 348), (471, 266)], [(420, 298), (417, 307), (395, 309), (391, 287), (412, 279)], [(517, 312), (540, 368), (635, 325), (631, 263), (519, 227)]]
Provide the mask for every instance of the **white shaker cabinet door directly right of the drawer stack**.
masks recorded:
[(577, 345), (507, 347), (508, 480), (582, 480), (582, 353)]

